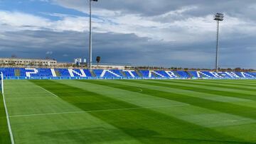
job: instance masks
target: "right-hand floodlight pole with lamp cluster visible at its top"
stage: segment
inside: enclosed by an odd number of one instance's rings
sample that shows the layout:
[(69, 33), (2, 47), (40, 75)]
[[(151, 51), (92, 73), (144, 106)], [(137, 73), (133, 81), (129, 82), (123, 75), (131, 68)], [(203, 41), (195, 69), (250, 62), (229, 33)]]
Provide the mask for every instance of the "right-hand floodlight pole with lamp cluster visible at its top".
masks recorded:
[(217, 21), (217, 44), (216, 44), (215, 70), (216, 70), (216, 72), (218, 72), (219, 26), (220, 26), (220, 21), (224, 20), (224, 14), (223, 13), (216, 13), (215, 16), (214, 16), (214, 20)]

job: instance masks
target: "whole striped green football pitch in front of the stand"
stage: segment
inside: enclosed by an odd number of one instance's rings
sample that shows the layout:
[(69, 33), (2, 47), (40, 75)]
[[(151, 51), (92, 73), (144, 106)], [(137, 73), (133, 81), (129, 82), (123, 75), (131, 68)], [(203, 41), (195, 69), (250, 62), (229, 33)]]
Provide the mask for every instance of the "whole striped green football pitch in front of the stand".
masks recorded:
[[(254, 80), (5, 80), (4, 86), (15, 143), (256, 143)], [(2, 96), (0, 128), (0, 143), (11, 143)]]

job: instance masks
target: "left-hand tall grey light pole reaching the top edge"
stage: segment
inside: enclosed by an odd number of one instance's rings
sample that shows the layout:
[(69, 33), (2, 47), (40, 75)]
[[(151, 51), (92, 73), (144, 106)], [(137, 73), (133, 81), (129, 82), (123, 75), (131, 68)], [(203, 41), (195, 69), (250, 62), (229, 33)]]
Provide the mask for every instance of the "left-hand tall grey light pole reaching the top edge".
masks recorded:
[(98, 0), (89, 0), (90, 1), (90, 38), (89, 38), (89, 70), (92, 71), (92, 1)]

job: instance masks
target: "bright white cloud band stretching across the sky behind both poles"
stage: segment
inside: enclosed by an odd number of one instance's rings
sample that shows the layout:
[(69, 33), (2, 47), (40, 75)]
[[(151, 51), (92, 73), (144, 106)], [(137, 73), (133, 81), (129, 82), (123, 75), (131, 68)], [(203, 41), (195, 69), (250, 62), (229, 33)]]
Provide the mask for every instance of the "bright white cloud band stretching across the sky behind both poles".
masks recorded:
[[(186, 16), (186, 12), (195, 11), (198, 6), (183, 6), (181, 9), (169, 11), (159, 16), (141, 16), (140, 14), (121, 11), (97, 9), (92, 18), (95, 33), (134, 33), (139, 37), (151, 40), (163, 40), (173, 43), (198, 43), (202, 40), (215, 40), (215, 22), (212, 15)], [(0, 11), (1, 31), (48, 30), (48, 31), (88, 31), (86, 16), (72, 16), (61, 13), (46, 13), (58, 16), (53, 21), (28, 13)], [(16, 20), (19, 20), (18, 22)], [(255, 35), (256, 24), (251, 20), (225, 14), (225, 22), (221, 26), (224, 38), (231, 38), (235, 33)], [(238, 35), (240, 36), (240, 35)]]

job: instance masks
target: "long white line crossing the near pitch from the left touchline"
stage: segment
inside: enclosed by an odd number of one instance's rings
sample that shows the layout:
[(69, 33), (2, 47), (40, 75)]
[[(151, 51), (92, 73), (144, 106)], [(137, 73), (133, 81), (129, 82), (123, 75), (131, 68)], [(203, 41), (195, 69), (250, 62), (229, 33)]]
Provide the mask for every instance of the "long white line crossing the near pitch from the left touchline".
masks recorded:
[(166, 107), (176, 107), (176, 106), (189, 106), (189, 104), (179, 104), (172, 106), (147, 106), (147, 107), (138, 107), (138, 108), (123, 108), (123, 109), (102, 109), (102, 110), (92, 110), (92, 111), (70, 111), (70, 112), (61, 112), (61, 113), (40, 113), (40, 114), (25, 114), (25, 115), (15, 115), (9, 117), (23, 117), (23, 116), (47, 116), (47, 115), (56, 115), (56, 114), (67, 114), (67, 113), (92, 113), (100, 111), (122, 111), (122, 110), (133, 110), (133, 109), (152, 109), (152, 108), (166, 108)]

